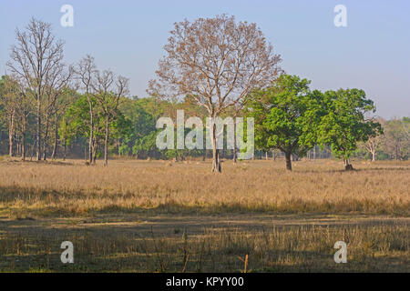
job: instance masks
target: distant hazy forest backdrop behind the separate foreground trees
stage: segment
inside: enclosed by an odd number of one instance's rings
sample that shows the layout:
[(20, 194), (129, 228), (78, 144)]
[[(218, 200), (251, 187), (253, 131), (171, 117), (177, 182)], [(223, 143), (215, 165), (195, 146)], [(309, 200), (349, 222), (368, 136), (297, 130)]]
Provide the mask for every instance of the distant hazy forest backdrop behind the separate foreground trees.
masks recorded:
[[(1, 119), (0, 119), (0, 153), (15, 157), (35, 158), (36, 156), (36, 115), (34, 104), (28, 102), (26, 115), (22, 115), (17, 104), (7, 102), (5, 93), (5, 79), (0, 81), (1, 92)], [(18, 99), (16, 99), (18, 101)], [(97, 101), (91, 98), (93, 105)], [(75, 90), (66, 90), (56, 100), (57, 110), (43, 124), (47, 129), (43, 133), (44, 141), (43, 159), (54, 158), (85, 158), (88, 160), (89, 140), (89, 106), (87, 96)], [(114, 122), (110, 125), (109, 152), (114, 156), (124, 156), (140, 159), (177, 159), (205, 158), (210, 156), (210, 150), (159, 150), (156, 146), (156, 137), (159, 129), (156, 122), (160, 116), (170, 116), (176, 119), (177, 110), (184, 110), (187, 118), (190, 116), (207, 117), (204, 110), (186, 96), (182, 101), (169, 102), (158, 100), (155, 97), (138, 98), (122, 97), (119, 101), (118, 110)], [(102, 109), (95, 106), (97, 125), (94, 131), (95, 156), (103, 156), (104, 151), (104, 115)], [(410, 118), (394, 118), (385, 120), (378, 117), (377, 121), (383, 127), (383, 134), (377, 135), (365, 143), (361, 143), (354, 151), (354, 156), (364, 157), (370, 160), (397, 159), (407, 160), (410, 154), (409, 135)], [(23, 146), (25, 143), (25, 146)], [(26, 149), (24, 149), (24, 147)], [(224, 150), (225, 158), (233, 158), (231, 150)], [(278, 149), (256, 148), (255, 158), (276, 158), (282, 156)], [(331, 148), (326, 146), (314, 146), (307, 152), (308, 158), (331, 157)], [(292, 156), (298, 159), (298, 156)]]

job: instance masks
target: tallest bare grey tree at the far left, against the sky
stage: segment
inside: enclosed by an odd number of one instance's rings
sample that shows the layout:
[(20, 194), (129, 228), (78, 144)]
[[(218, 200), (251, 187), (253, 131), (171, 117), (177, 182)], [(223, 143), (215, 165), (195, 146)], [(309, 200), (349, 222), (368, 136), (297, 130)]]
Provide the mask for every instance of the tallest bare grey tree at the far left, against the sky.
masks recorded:
[(42, 105), (47, 78), (63, 60), (63, 41), (56, 40), (51, 25), (32, 18), (24, 31), (15, 30), (7, 63), (11, 73), (24, 81), (36, 102), (36, 159), (41, 159)]

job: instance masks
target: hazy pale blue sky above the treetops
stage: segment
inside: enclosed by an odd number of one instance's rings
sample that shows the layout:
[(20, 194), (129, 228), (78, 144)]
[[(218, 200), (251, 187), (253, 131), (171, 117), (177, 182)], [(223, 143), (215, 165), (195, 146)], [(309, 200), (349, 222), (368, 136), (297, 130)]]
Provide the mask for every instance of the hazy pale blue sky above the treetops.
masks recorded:
[[(66, 4), (74, 7), (74, 27), (60, 25)], [(347, 27), (333, 25), (339, 4), (347, 8)], [(257, 23), (284, 70), (311, 79), (313, 88), (362, 88), (377, 115), (410, 115), (408, 0), (0, 0), (0, 74), (15, 27), (35, 16), (66, 41), (67, 63), (91, 54), (99, 68), (128, 76), (132, 95), (146, 96), (173, 23), (223, 13)]]

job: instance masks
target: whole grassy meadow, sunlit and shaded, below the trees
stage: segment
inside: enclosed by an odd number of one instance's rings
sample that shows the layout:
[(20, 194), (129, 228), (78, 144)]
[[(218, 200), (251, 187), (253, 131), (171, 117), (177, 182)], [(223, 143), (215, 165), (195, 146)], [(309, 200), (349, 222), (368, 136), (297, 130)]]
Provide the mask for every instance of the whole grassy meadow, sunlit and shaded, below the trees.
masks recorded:
[(409, 272), (410, 163), (353, 164), (3, 158), (0, 271)]

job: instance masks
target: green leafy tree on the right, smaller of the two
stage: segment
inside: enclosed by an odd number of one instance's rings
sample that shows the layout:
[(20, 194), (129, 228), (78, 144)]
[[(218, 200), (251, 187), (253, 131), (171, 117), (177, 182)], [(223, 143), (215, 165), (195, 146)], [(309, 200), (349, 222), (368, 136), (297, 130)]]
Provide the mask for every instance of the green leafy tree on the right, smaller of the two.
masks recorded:
[(323, 95), (323, 116), (318, 130), (320, 145), (331, 146), (333, 155), (342, 158), (346, 170), (352, 170), (350, 157), (361, 142), (381, 133), (381, 125), (365, 115), (375, 112), (374, 102), (363, 90), (339, 89)]

